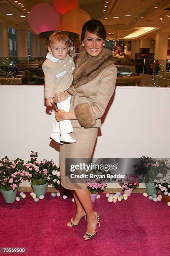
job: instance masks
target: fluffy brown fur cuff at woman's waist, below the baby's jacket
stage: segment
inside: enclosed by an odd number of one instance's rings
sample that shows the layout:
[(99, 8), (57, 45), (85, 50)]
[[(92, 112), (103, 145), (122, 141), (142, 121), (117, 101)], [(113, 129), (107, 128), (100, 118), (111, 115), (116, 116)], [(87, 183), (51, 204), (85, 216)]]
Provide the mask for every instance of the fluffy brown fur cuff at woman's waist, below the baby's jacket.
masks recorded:
[(87, 103), (79, 104), (75, 107), (75, 115), (81, 126), (91, 128), (95, 125), (95, 118), (90, 111), (90, 106)]

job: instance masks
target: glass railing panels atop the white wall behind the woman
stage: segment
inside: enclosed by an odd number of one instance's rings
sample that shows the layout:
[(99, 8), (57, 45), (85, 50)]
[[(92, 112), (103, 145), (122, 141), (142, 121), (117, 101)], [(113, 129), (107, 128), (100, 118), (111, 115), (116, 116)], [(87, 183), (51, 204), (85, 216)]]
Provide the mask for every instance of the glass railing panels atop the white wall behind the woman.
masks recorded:
[[(77, 50), (70, 51), (72, 56)], [(0, 57), (0, 84), (44, 84), (45, 57)], [(158, 62), (158, 61), (157, 61)], [(170, 87), (170, 61), (115, 58), (118, 86)]]

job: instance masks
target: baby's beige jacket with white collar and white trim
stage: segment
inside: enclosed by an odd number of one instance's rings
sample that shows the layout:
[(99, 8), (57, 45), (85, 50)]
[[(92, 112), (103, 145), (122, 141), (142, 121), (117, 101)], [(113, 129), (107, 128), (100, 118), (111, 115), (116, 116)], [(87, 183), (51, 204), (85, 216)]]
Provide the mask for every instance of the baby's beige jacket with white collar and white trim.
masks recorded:
[(46, 60), (42, 64), (45, 79), (45, 98), (54, 97), (56, 93), (64, 92), (72, 83), (74, 62), (67, 54), (64, 59), (56, 59), (47, 53)]

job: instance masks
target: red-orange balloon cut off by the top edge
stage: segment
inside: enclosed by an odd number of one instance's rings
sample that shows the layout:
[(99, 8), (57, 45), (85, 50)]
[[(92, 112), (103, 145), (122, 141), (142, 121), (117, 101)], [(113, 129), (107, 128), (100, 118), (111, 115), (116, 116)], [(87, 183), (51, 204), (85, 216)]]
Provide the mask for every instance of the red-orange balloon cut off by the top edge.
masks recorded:
[(53, 0), (55, 9), (62, 15), (67, 11), (78, 8), (78, 0)]

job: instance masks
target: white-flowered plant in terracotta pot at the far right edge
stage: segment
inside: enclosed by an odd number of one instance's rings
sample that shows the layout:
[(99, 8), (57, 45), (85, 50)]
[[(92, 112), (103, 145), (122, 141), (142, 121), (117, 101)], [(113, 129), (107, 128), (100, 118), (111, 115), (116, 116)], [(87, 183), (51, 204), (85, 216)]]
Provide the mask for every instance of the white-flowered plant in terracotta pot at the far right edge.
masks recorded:
[(170, 202), (170, 164), (165, 161), (167, 166), (166, 174), (158, 173), (156, 179), (154, 179), (156, 190), (161, 191), (163, 202)]

